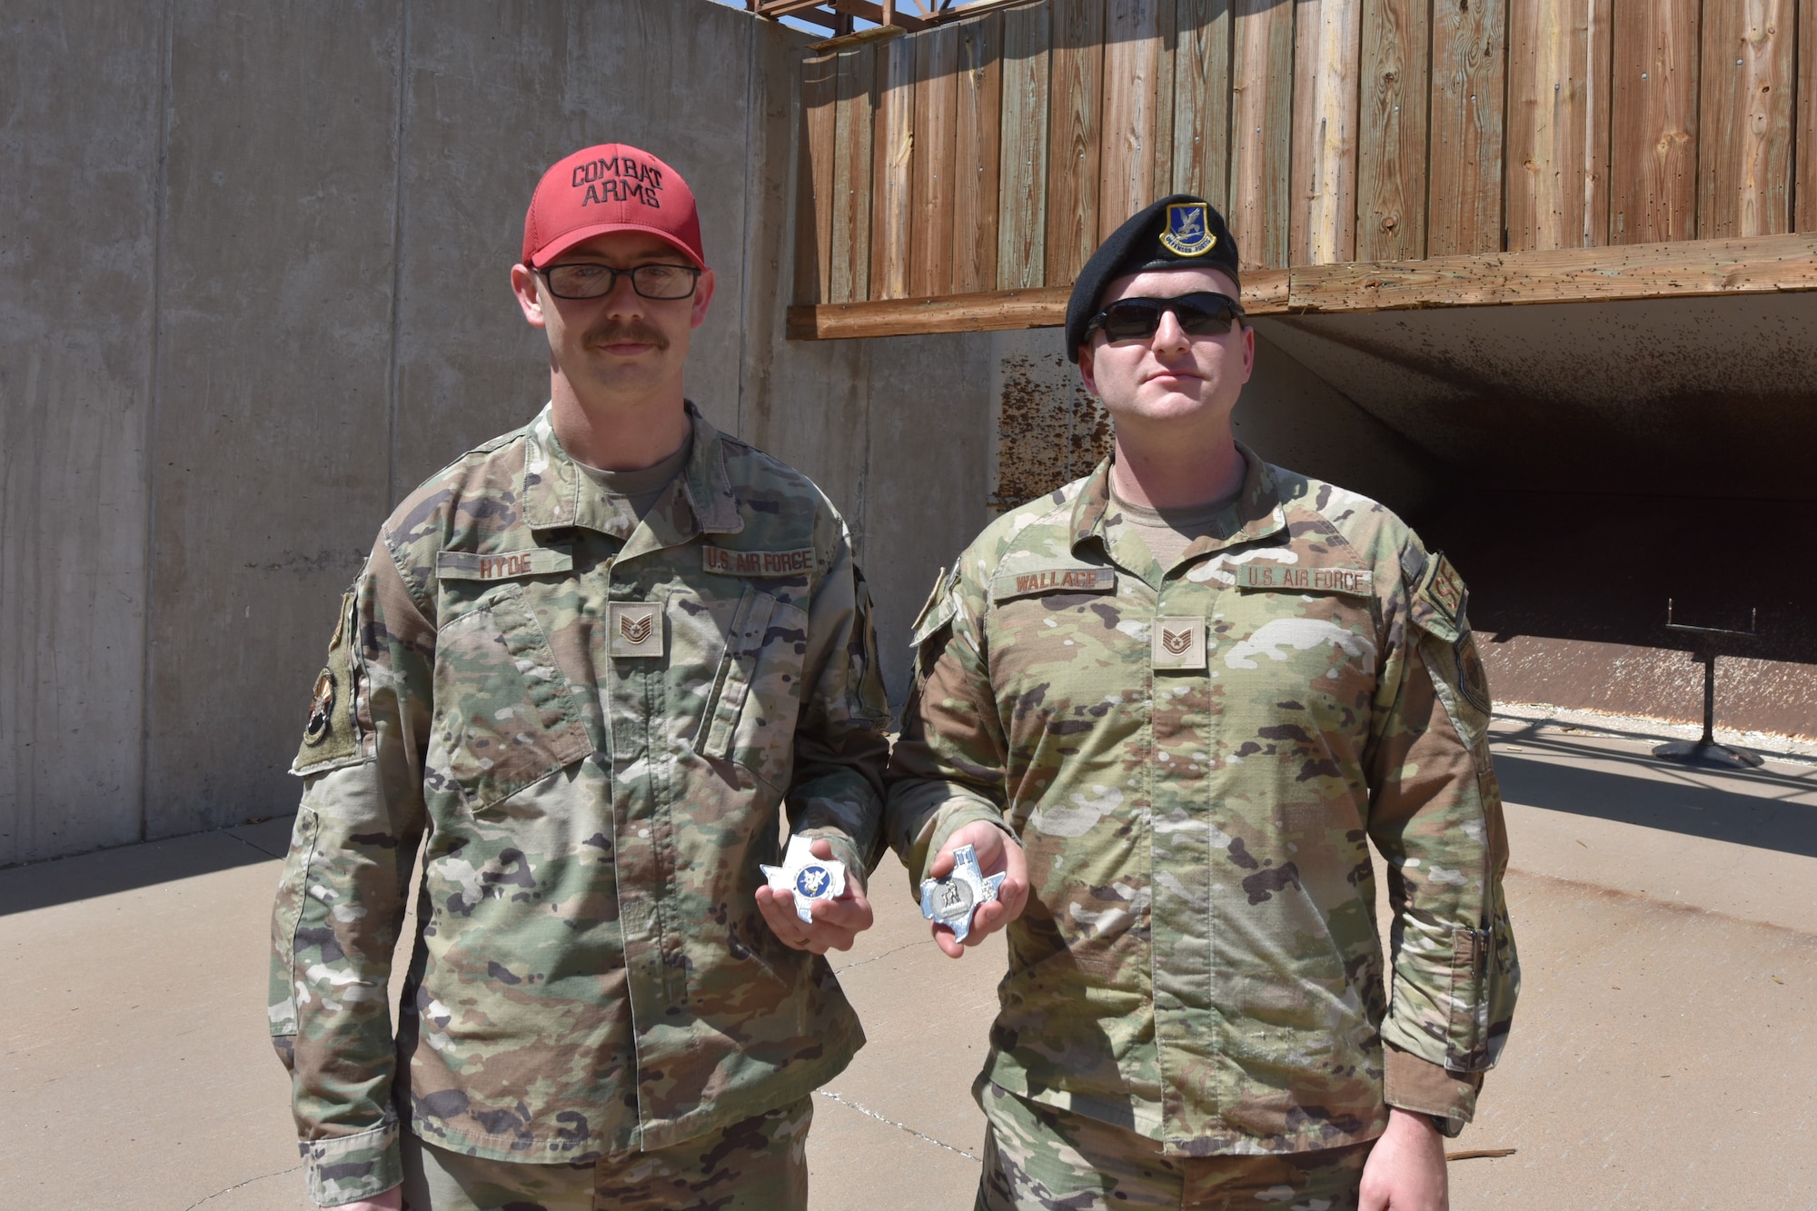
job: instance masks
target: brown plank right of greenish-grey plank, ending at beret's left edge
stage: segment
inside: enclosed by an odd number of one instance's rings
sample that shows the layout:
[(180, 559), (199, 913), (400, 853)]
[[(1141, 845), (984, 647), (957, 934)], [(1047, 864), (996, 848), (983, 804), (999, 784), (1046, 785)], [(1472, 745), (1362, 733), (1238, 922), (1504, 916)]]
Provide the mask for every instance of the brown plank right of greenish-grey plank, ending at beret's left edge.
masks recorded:
[(1052, 0), (1052, 7), (1047, 285), (1065, 285), (1097, 247), (1105, 7), (1103, 0)]

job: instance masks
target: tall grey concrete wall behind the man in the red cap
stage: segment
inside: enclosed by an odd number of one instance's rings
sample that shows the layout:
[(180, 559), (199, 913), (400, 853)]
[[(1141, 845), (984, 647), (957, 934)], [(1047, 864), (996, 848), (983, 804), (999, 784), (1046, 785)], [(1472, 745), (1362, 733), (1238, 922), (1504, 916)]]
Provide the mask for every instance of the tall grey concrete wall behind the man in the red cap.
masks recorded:
[(342, 587), (543, 402), (523, 205), (701, 200), (689, 393), (852, 520), (887, 673), (985, 518), (990, 338), (787, 344), (805, 36), (705, 0), (15, 0), (0, 16), (0, 866), (293, 809)]

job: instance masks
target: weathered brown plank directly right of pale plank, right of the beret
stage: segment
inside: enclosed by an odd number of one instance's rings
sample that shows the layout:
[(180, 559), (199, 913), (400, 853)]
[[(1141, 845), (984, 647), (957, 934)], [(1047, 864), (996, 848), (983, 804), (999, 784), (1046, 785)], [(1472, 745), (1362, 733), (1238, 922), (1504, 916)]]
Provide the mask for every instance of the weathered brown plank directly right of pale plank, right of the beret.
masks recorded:
[(1355, 240), (1361, 260), (1426, 255), (1428, 2), (1363, 2)]

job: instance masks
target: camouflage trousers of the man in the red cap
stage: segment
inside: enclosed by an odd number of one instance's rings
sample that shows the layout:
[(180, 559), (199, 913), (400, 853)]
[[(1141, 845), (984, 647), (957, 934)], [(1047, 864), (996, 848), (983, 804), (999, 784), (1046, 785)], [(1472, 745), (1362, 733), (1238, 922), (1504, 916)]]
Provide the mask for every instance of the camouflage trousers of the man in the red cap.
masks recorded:
[(581, 1166), (467, 1156), (403, 1133), (403, 1211), (805, 1211), (801, 1098), (652, 1153)]

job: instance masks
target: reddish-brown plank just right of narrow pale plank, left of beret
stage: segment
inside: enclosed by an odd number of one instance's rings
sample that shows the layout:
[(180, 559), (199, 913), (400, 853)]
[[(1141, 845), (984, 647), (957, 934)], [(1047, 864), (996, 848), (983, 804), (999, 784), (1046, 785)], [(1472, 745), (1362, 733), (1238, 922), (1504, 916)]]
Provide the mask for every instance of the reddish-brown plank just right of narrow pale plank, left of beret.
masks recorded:
[(952, 284), (952, 149), (959, 120), (959, 27), (943, 25), (914, 44), (914, 173), (908, 293), (943, 295)]

